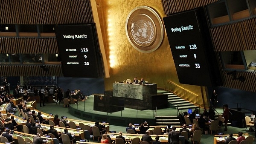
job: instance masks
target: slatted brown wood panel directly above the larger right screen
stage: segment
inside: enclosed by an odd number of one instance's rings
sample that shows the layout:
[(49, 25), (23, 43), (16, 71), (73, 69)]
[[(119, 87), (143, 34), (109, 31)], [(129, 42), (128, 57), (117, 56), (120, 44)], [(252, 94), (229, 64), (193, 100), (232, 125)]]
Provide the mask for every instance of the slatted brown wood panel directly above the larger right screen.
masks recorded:
[(218, 0), (162, 0), (163, 11), (166, 15), (206, 6)]

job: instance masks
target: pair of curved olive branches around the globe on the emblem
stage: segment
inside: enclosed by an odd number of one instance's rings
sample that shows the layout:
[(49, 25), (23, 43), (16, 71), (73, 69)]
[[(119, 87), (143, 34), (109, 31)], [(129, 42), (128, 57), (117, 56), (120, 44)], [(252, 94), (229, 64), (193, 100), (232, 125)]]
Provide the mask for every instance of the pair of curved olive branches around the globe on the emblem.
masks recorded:
[(148, 44), (148, 43), (151, 43), (151, 42), (152, 42), (152, 40), (153, 40), (153, 38), (154, 38), (154, 27), (153, 27), (153, 24), (152, 24), (150, 21), (148, 21), (148, 25), (150, 26), (151, 34), (150, 34), (150, 36), (148, 37), (148, 40), (147, 40), (147, 41), (140, 41), (140, 40), (136, 37), (135, 32), (134, 32), (135, 23), (132, 23), (132, 24), (131, 24), (131, 36), (132, 36), (132, 38), (133, 38), (138, 44), (143, 44), (143, 43)]

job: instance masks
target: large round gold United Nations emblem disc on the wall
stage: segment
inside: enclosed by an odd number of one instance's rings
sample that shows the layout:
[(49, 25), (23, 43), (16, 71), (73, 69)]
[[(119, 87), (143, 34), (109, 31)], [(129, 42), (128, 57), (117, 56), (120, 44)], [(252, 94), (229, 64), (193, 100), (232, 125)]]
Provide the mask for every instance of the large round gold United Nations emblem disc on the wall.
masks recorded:
[(140, 52), (153, 52), (163, 40), (163, 24), (158, 14), (147, 6), (133, 9), (126, 20), (126, 35)]

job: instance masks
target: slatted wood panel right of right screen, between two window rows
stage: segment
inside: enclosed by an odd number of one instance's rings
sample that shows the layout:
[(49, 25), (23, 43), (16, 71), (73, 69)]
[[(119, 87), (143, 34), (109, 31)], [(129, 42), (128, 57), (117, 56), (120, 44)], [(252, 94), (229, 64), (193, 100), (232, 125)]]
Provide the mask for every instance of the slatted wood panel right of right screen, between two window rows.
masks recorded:
[(211, 28), (215, 51), (243, 51), (256, 48), (256, 17)]

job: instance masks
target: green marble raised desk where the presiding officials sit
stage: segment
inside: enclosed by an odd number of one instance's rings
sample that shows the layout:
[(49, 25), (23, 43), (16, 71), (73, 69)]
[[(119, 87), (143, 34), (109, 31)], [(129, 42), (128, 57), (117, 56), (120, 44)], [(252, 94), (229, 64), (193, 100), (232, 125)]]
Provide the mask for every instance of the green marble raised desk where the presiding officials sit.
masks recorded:
[(157, 94), (157, 84), (113, 83), (113, 96), (143, 100), (144, 96)]

